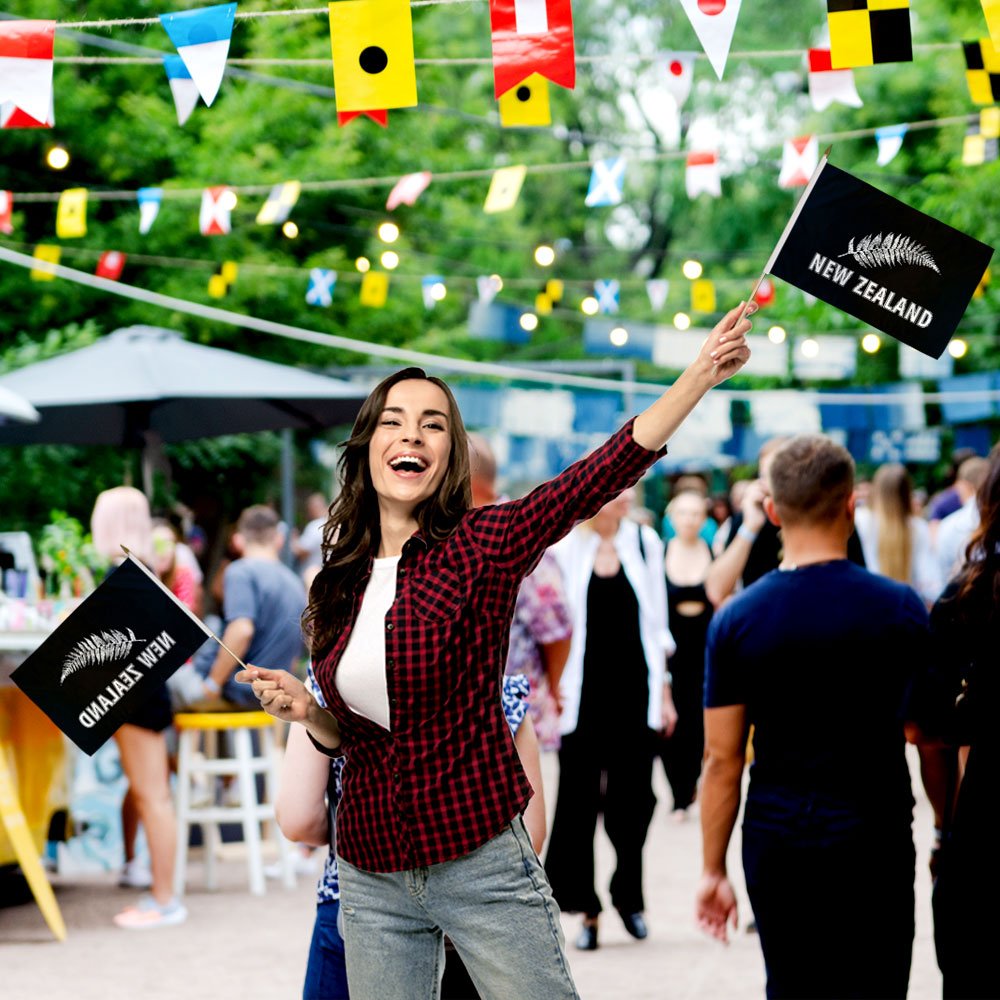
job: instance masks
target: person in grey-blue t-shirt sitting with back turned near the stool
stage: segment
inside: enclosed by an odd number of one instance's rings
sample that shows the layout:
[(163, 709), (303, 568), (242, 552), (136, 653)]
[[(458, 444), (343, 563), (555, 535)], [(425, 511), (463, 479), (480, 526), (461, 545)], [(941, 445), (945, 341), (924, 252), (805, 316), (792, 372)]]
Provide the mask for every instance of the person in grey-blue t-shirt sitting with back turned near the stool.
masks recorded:
[[(298, 575), (279, 558), (284, 539), (278, 516), (270, 507), (247, 507), (236, 533), (243, 557), (226, 569), (222, 641), (246, 663), (292, 670), (303, 651), (299, 619), (306, 592)], [(205, 678), (205, 691), (210, 698), (221, 694), (227, 701), (256, 708), (252, 689), (233, 680), (237, 668), (220, 647)]]

